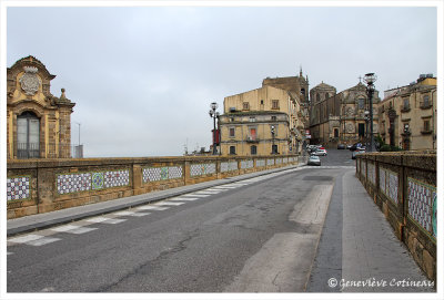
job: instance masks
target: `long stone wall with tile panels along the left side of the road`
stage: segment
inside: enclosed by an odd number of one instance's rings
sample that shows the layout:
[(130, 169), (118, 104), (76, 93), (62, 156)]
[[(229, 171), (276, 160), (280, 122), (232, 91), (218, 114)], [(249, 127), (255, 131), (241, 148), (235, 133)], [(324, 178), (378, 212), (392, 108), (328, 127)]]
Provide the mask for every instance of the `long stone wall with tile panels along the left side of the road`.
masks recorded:
[(8, 161), (8, 218), (297, 165), (297, 156)]

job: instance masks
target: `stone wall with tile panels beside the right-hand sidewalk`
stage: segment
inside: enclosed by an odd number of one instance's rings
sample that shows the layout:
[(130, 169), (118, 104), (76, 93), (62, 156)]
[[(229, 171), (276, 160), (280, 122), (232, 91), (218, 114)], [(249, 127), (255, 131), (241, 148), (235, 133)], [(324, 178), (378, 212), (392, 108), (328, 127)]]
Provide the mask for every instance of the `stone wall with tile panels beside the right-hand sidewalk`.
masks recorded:
[(436, 280), (436, 153), (362, 154), (356, 176), (426, 276)]

